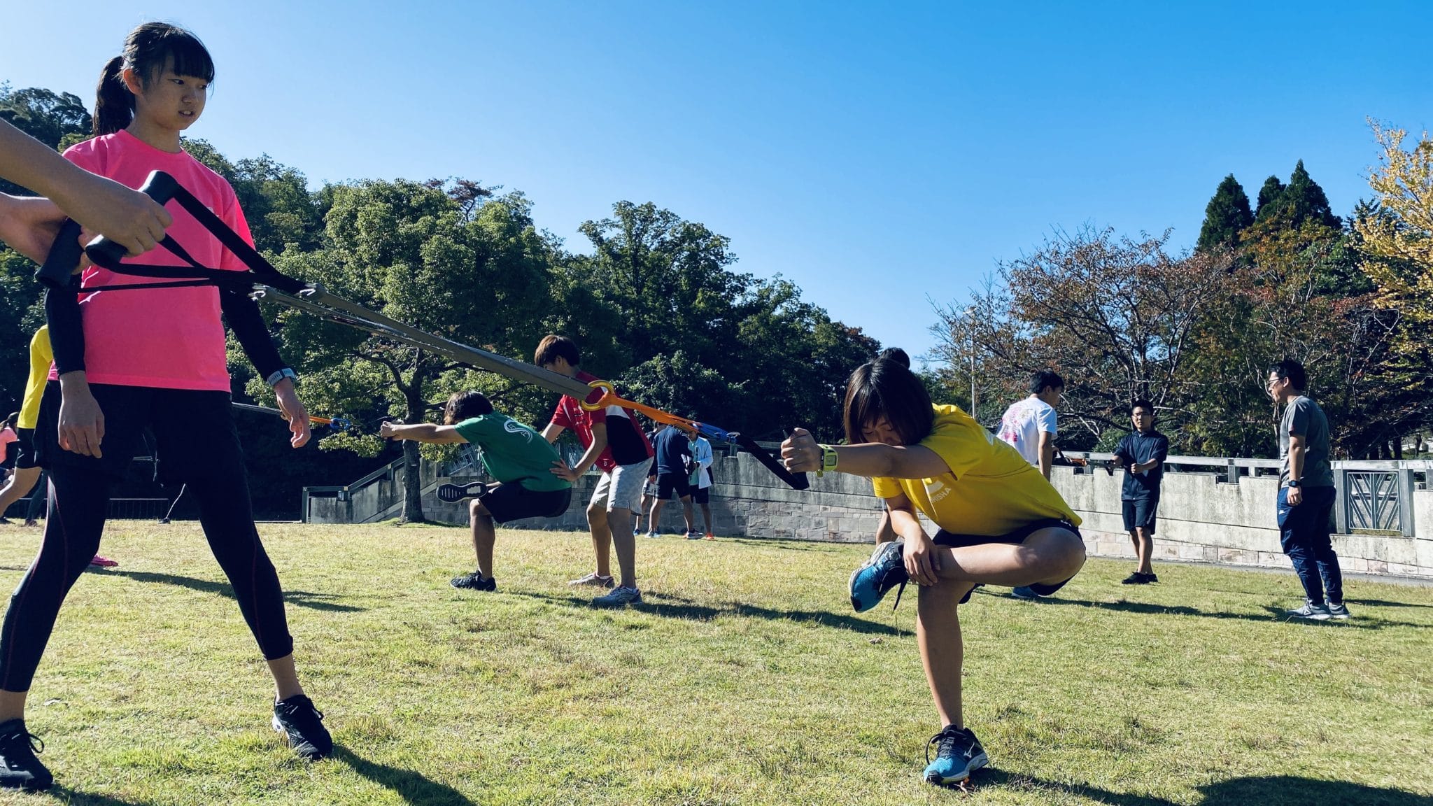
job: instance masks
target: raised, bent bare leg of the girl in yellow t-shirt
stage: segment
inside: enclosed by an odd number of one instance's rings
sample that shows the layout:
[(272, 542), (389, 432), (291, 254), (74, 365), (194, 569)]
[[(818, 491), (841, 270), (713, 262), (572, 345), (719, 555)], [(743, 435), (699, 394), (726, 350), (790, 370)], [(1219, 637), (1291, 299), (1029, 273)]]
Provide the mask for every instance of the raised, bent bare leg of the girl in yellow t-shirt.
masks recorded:
[(937, 577), (986, 585), (1063, 582), (1085, 565), (1085, 542), (1059, 526), (1033, 532), (1023, 544), (936, 546), (936, 551), (940, 552)]

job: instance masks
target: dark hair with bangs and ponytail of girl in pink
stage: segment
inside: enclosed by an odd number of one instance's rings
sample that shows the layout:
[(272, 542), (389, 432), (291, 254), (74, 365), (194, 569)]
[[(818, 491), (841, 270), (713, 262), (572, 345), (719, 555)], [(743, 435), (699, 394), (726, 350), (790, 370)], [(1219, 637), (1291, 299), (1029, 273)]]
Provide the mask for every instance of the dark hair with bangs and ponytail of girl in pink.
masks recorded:
[(143, 85), (166, 67), (181, 76), (214, 80), (214, 59), (191, 32), (169, 23), (145, 23), (129, 32), (125, 50), (105, 63), (95, 87), (95, 135), (113, 135), (135, 119), (135, 93), (125, 86), (125, 70), (133, 70)]

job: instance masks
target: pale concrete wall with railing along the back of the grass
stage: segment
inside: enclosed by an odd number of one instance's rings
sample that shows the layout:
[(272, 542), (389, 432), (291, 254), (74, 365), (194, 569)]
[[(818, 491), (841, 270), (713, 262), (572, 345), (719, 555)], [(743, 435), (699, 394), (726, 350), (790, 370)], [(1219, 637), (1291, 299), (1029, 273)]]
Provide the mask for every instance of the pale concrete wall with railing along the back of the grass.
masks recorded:
[[(1070, 456), (1095, 462), (1111, 457), (1099, 453)], [(1334, 548), (1346, 571), (1433, 577), (1433, 490), (1422, 489), (1420, 483), (1433, 469), (1430, 465), (1422, 460), (1334, 463), (1340, 485), (1340, 501), (1334, 508), (1338, 532)], [(1277, 460), (1171, 456), (1169, 468), (1155, 526), (1156, 559), (1288, 566), (1274, 519)], [(1187, 469), (1205, 472), (1181, 472)], [(394, 476), (401, 472), (397, 468)], [(466, 525), (466, 505), (447, 505), (433, 495), (436, 483), (444, 480), (436, 473), (436, 466), (424, 468), (424, 513), (433, 521)], [(1080, 532), (1092, 554), (1132, 556), (1121, 516), (1122, 473), (1115, 470), (1108, 475), (1098, 466), (1059, 466), (1052, 472), (1055, 488), (1083, 519)], [(1370, 473), (1376, 476), (1374, 482), (1369, 482), (1366, 475)], [(811, 489), (798, 492), (782, 485), (747, 453), (719, 456), (714, 475), (711, 509), (718, 535), (870, 542), (880, 521), (881, 502), (871, 493), (870, 480), (857, 476), (830, 473), (818, 479), (813, 475)], [(590, 473), (577, 480), (572, 506), (563, 516), (510, 525), (586, 529), (585, 511), (595, 482), (596, 476)], [(396, 501), (401, 506), (401, 485), (396, 489)], [(380, 489), (370, 495), (385, 492)], [(307, 512), (320, 522), (355, 523), (364, 522), (360, 516), (375, 509), (377, 503), (364, 505), (350, 515), (342, 508), (328, 509), (310, 502)], [(1396, 512), (1396, 521), (1390, 512)], [(370, 513), (367, 519), (373, 518)], [(1393, 528), (1357, 525), (1369, 518)], [(696, 519), (701, 528), (699, 511)], [(681, 503), (668, 502), (661, 526), (665, 532), (682, 531)]]

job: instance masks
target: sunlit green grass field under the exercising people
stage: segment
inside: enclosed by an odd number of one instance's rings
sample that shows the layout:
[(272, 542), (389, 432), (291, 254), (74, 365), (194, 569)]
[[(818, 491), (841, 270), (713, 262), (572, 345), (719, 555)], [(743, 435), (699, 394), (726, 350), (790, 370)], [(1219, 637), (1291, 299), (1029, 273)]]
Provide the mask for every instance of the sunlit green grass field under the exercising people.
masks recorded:
[[(1346, 624), (1284, 622), (1291, 574), (1091, 561), (1055, 601), (962, 608), (966, 719), (992, 769), (919, 780), (940, 727), (914, 599), (856, 615), (866, 546), (641, 541), (646, 602), (589, 607), (585, 535), (261, 528), (299, 671), (341, 749), (268, 729), (262, 661), (196, 525), (112, 523), (29, 724), (56, 774), (0, 803), (747, 805), (1433, 802), (1433, 588), (1351, 581)], [(13, 588), (37, 534), (0, 528)]]

